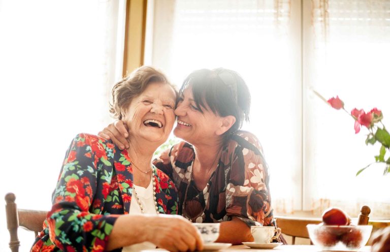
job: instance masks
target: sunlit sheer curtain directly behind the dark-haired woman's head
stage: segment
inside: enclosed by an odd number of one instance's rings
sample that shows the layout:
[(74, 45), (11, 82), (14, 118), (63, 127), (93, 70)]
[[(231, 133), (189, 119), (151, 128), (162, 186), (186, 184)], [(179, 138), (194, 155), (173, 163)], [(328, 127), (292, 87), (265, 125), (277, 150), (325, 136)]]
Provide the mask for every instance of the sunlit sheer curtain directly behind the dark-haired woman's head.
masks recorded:
[(252, 96), (250, 124), (244, 129), (263, 144), (272, 199), (280, 212), (301, 208), (297, 9), (280, 0), (162, 0), (154, 1), (148, 19), (153, 20), (148, 26), (153, 27), (149, 63), (163, 69), (177, 85), (201, 68), (224, 67), (243, 76)]

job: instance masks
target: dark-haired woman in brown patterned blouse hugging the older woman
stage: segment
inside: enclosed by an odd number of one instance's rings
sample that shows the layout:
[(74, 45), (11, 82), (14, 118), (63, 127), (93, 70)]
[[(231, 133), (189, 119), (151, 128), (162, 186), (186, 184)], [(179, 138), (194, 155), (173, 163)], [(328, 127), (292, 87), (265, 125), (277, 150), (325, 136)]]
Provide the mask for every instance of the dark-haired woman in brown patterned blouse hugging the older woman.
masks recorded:
[[(185, 140), (154, 160), (179, 193), (179, 214), (198, 223), (221, 223), (218, 242), (252, 241), (250, 226), (276, 226), (268, 166), (257, 138), (240, 131), (249, 120), (250, 94), (234, 71), (202, 69), (180, 88), (174, 134)], [(121, 121), (100, 136), (127, 145)], [(277, 241), (285, 243), (283, 237)]]

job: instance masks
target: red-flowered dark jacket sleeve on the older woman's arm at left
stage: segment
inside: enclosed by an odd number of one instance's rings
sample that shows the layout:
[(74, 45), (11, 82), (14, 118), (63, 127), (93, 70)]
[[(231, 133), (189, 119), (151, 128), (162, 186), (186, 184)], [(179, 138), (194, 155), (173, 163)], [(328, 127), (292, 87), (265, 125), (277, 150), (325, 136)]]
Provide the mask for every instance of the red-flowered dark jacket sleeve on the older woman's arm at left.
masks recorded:
[(93, 213), (100, 209), (93, 210), (92, 201), (107, 198), (114, 151), (113, 144), (93, 135), (79, 134), (72, 141), (46, 219), (50, 240), (61, 250), (105, 250), (118, 215)]

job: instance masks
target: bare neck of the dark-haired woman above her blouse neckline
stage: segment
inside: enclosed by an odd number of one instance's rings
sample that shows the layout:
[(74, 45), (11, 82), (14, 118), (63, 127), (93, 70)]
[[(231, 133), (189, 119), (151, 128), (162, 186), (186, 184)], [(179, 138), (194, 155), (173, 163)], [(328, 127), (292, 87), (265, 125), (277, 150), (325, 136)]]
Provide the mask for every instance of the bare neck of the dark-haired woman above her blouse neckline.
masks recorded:
[(194, 145), (195, 160), (201, 165), (202, 170), (212, 170), (219, 157), (222, 141), (209, 142), (208, 144)]

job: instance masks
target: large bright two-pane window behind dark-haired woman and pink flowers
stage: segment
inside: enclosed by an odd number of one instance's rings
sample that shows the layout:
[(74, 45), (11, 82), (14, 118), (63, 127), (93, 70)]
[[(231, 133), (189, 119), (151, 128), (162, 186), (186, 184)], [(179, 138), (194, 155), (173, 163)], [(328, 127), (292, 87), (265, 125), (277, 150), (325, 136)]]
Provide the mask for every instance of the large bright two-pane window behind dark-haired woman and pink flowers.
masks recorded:
[(230, 68), (246, 80), (252, 106), (245, 129), (263, 144), (277, 214), (332, 205), (356, 216), (369, 204), (371, 216), (390, 216), (383, 169), (355, 177), (377, 146), (365, 146), (364, 129), (355, 135), (353, 120), (312, 92), (338, 95), (350, 109), (376, 106), (388, 118), (390, 4), (176, 0), (154, 1), (153, 10), (148, 64), (177, 85), (200, 68)]

